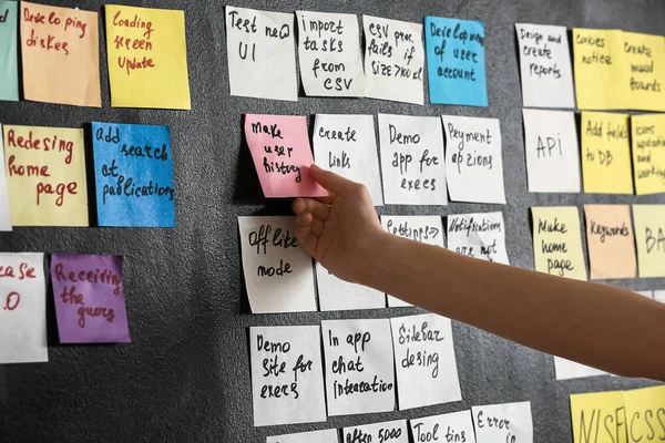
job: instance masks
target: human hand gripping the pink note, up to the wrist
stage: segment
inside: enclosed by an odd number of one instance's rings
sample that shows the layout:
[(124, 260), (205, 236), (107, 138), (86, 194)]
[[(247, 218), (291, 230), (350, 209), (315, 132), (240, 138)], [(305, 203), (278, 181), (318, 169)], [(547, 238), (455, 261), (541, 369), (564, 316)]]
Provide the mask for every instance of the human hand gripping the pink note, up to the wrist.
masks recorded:
[(316, 165), (309, 174), (329, 196), (294, 202), (298, 244), (336, 277), (362, 282), (376, 241), (386, 234), (369, 192)]

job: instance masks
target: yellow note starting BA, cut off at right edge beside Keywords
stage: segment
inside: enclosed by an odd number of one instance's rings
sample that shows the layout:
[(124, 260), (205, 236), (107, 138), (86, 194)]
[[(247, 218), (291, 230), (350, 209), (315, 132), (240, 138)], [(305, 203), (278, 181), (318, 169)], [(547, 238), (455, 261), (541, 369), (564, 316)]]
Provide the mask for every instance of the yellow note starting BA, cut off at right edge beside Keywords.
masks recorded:
[(640, 277), (665, 277), (665, 205), (633, 205)]

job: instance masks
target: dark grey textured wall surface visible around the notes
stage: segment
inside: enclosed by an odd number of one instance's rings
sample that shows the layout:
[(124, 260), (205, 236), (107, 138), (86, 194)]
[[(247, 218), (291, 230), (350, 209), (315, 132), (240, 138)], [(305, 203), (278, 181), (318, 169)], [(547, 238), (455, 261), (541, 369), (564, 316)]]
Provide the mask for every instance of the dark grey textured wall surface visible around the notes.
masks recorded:
[[(102, 1), (49, 3), (99, 11), (103, 20)], [(244, 293), (237, 217), (286, 215), (289, 205), (263, 198), (244, 145), (243, 113), (308, 115), (310, 126), (316, 113), (500, 119), (507, 206), (458, 203), (448, 207), (387, 206), (380, 214), (444, 216), (502, 210), (510, 261), (519, 267), (533, 268), (529, 217), (532, 206), (665, 203), (663, 196), (528, 192), (514, 34), (515, 22), (662, 34), (665, 3), (658, 0), (238, 0), (231, 3), (279, 12), (297, 9), (347, 12), (413, 22), (421, 22), (426, 14), (484, 21), (490, 103), (487, 109), (306, 97), (301, 87), (297, 103), (229, 96), (225, 2), (124, 0), (121, 3), (185, 10), (192, 111), (111, 109), (106, 42), (101, 25), (102, 109), (2, 102), (0, 122), (85, 127), (89, 141), (91, 121), (170, 126), (176, 228), (14, 228), (13, 233), (0, 234), (3, 251), (123, 255), (133, 340), (131, 344), (114, 346), (58, 344), (49, 291), (50, 361), (0, 367), (0, 440), (8, 443), (264, 442), (274, 434), (418, 418), (479, 404), (531, 401), (534, 441), (561, 443), (572, 441), (569, 394), (652, 384), (610, 377), (557, 382), (552, 357), (453, 322), (463, 401), (406, 412), (338, 416), (311, 425), (254, 427), (248, 327), (319, 324), (321, 319), (387, 318), (418, 310), (252, 316)], [(90, 143), (86, 150), (90, 162)], [(665, 289), (665, 279), (610, 282), (635, 290)], [(444, 296), (446, 288), (441, 291)]]

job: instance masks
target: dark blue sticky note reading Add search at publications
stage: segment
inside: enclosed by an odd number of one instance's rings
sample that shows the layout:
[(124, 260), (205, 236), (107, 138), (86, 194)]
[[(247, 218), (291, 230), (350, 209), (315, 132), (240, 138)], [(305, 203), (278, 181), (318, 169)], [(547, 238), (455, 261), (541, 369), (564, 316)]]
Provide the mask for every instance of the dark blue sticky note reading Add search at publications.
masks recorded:
[(92, 123), (100, 226), (174, 227), (166, 126)]

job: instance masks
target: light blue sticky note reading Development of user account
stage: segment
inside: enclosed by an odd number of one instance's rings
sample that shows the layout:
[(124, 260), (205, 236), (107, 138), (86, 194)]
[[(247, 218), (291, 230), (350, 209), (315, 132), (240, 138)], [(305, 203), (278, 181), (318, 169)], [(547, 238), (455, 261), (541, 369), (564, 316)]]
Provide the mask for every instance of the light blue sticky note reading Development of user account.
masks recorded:
[(424, 17), (430, 103), (487, 106), (484, 25)]

